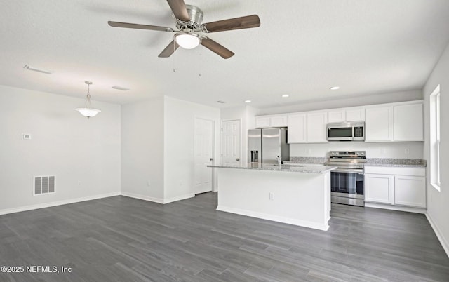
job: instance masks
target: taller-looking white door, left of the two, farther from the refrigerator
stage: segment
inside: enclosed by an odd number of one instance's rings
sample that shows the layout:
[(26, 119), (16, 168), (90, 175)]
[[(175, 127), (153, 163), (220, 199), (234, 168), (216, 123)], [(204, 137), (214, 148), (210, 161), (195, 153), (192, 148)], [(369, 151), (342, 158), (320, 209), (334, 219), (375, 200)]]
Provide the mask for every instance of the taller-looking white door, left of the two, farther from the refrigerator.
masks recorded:
[(213, 121), (195, 118), (195, 194), (212, 191)]

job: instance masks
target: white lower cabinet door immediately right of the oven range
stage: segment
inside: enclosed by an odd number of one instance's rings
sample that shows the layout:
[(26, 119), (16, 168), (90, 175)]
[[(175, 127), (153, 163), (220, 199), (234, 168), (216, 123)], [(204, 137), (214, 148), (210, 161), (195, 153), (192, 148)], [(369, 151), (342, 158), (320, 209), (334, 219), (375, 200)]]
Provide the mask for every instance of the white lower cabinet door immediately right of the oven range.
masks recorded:
[(394, 175), (365, 173), (365, 201), (394, 203)]

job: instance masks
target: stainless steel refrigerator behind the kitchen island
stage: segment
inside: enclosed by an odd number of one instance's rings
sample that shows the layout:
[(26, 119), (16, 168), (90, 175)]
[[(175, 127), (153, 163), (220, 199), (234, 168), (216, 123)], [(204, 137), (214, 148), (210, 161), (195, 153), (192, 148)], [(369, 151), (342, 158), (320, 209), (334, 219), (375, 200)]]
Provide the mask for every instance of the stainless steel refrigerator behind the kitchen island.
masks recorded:
[(248, 162), (278, 163), (290, 161), (287, 128), (261, 128), (248, 130)]

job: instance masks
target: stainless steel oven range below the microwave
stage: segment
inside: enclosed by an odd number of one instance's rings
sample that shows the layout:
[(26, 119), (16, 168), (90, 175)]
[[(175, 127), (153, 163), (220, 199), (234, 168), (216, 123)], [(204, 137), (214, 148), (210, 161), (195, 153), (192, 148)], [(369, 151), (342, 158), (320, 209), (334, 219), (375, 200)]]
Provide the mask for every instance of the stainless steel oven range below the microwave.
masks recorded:
[(330, 151), (327, 166), (337, 166), (330, 172), (330, 201), (351, 206), (365, 206), (363, 166), (365, 151)]

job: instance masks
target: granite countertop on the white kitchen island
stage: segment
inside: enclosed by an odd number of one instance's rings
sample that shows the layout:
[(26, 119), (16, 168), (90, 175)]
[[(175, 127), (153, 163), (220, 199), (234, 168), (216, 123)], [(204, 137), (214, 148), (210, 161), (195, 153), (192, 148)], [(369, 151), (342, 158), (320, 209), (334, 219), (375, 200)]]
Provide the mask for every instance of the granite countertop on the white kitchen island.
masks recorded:
[(208, 166), (209, 168), (238, 168), (249, 170), (272, 170), (285, 171), (286, 173), (327, 173), (330, 170), (337, 168), (336, 166), (323, 166), (320, 164), (310, 164), (307, 166), (300, 165), (278, 165), (275, 163), (247, 163), (242, 166)]

